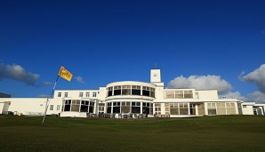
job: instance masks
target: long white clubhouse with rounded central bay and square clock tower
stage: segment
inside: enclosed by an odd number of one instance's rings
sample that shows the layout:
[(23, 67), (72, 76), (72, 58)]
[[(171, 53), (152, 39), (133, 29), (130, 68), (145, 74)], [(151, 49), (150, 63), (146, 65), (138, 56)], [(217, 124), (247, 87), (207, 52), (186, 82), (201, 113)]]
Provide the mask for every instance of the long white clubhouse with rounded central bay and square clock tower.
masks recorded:
[(0, 114), (61, 117), (262, 115), (265, 104), (219, 99), (217, 90), (168, 89), (161, 70), (150, 70), (150, 82), (123, 81), (98, 90), (55, 90), (53, 98), (0, 97)]

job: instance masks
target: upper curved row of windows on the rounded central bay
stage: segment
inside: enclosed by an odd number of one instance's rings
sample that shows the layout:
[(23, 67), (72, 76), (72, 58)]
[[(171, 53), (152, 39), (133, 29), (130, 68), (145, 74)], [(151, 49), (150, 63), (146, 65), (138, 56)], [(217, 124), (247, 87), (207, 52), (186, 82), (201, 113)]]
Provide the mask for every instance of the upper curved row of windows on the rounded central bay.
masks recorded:
[(155, 88), (139, 85), (118, 85), (108, 87), (108, 97), (115, 95), (142, 95), (155, 98)]

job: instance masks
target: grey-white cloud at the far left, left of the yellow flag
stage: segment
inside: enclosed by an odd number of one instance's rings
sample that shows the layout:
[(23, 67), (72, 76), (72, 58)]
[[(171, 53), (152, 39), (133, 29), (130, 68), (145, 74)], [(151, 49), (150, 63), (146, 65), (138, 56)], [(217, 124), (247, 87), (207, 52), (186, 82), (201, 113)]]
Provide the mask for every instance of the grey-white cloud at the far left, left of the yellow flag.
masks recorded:
[(28, 72), (25, 68), (22, 68), (20, 65), (4, 65), (3, 62), (0, 62), (0, 80), (3, 78), (9, 78), (15, 81), (20, 81), (32, 86), (45, 86), (49, 85), (49, 82), (44, 82), (41, 84), (36, 84), (40, 76), (38, 74), (33, 74)]

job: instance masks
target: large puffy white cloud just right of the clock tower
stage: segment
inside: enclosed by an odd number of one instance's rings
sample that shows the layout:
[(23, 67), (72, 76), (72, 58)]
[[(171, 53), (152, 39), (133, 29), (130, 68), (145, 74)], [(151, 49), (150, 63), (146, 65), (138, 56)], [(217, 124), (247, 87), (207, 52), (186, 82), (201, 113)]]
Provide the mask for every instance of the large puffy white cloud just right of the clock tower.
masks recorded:
[(198, 90), (217, 89), (220, 94), (232, 89), (228, 81), (221, 76), (178, 76), (169, 83), (170, 88), (196, 88)]

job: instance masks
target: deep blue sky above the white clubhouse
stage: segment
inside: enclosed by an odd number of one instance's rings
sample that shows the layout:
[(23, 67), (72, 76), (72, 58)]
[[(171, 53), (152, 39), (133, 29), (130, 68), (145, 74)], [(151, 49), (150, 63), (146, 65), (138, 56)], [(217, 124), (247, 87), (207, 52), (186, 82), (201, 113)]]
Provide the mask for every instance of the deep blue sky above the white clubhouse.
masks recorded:
[(57, 89), (149, 82), (157, 63), (167, 87), (201, 89), (195, 82), (213, 81), (219, 89), (225, 81), (223, 94), (264, 95), (264, 6), (262, 0), (2, 0), (0, 92), (49, 95), (60, 66), (83, 82), (60, 79)]

